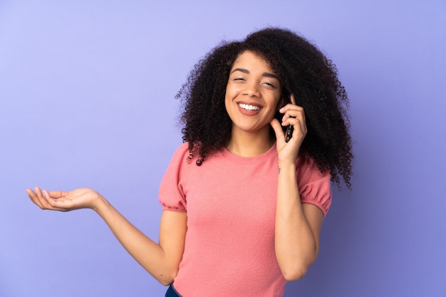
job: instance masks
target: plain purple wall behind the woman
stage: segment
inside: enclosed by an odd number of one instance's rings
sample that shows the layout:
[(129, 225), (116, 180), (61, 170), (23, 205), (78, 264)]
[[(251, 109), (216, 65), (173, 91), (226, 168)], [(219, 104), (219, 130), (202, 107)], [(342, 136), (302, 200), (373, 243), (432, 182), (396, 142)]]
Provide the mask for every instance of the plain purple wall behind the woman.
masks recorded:
[(445, 1), (149, 2), (0, 1), (0, 296), (164, 296), (95, 213), (40, 211), (25, 189), (93, 187), (157, 240), (177, 90), (268, 25), (336, 63), (356, 153), (285, 296), (446, 296)]

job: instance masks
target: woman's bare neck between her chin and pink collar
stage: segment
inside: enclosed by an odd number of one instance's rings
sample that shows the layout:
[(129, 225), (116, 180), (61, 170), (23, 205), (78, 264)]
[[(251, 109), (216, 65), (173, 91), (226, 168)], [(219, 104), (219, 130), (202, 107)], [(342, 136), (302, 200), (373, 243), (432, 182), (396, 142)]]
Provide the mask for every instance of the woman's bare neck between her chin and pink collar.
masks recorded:
[(227, 150), (241, 157), (256, 157), (274, 145), (276, 140), (269, 130), (263, 133), (234, 132), (226, 145)]

